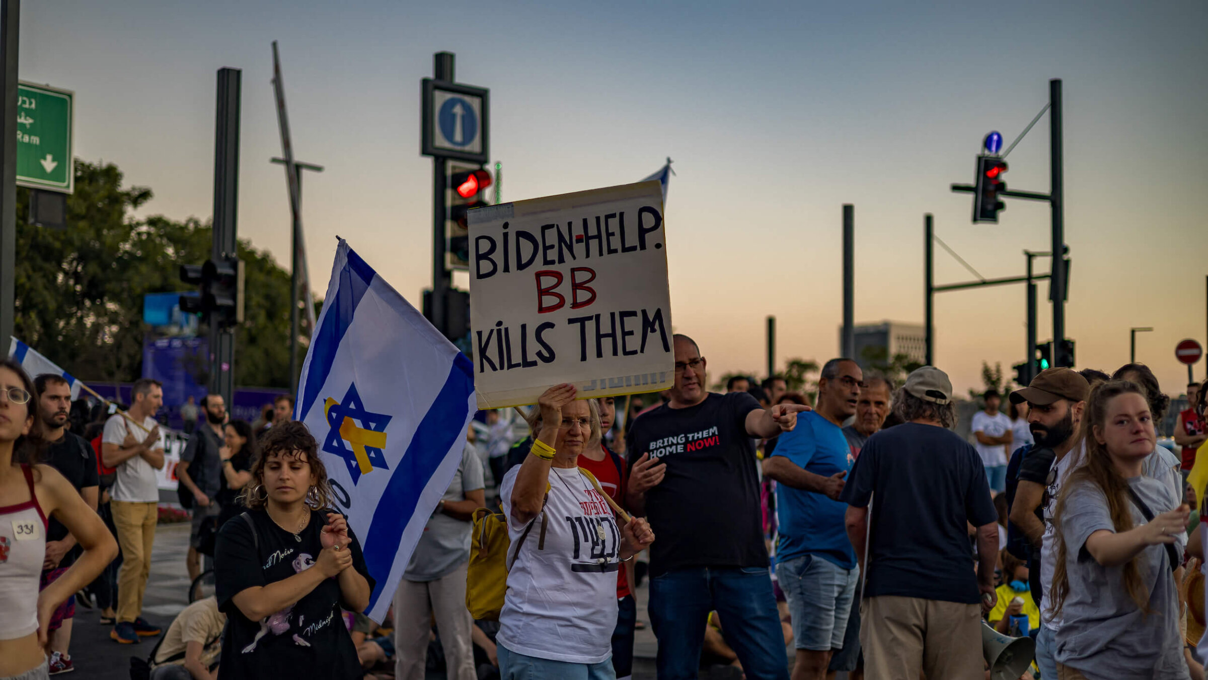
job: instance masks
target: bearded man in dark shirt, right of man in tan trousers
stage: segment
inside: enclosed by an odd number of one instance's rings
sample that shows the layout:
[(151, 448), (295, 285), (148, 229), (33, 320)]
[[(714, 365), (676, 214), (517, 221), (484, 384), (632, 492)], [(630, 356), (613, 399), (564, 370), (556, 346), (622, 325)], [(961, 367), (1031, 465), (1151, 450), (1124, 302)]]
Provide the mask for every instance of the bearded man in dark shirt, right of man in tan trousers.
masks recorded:
[(185, 558), (190, 581), (202, 574), (202, 558), (197, 552), (202, 524), (208, 517), (216, 518), (222, 509), (214, 497), (222, 489), (222, 456), (219, 449), (223, 444), (226, 402), (221, 394), (207, 394), (202, 399), (202, 411), (205, 413), (205, 423), (199, 425), (190, 436), (176, 466), (176, 478), (193, 495), (193, 526), (188, 535), (188, 555)]

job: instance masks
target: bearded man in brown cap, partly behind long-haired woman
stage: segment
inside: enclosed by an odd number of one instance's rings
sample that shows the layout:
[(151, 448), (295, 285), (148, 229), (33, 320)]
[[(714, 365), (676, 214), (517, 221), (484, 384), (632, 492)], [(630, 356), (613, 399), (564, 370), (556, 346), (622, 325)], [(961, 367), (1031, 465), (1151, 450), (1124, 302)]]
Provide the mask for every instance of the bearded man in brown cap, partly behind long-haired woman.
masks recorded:
[(1040, 371), (1027, 387), (1012, 392), (1010, 397), (1017, 404), (1028, 403), (1028, 425), (1035, 440), (1032, 446), (1017, 451), (1022, 460), (1010, 521), (1020, 528), (1032, 548), (1028, 566), (1033, 599), (1040, 603), (1041, 612), (1036, 663), (1044, 678), (1057, 676), (1053, 634), (1062, 623), (1059, 616), (1046, 611), (1053, 566), (1057, 564), (1052, 517), (1061, 485), (1081, 457), (1078, 430), (1088, 393), (1090, 385), (1078, 371), (1050, 368)]

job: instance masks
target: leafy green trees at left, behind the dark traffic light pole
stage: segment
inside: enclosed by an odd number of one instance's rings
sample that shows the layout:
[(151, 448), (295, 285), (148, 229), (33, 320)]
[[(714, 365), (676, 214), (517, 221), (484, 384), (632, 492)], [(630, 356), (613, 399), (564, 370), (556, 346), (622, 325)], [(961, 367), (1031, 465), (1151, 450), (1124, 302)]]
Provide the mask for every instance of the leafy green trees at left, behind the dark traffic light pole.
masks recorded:
[[(143, 295), (186, 290), (179, 266), (209, 259), (211, 230), (197, 218), (132, 217), (151, 189), (123, 188), (112, 163), (76, 160), (75, 174), (65, 230), (27, 223), (29, 192), (17, 192), (14, 333), (81, 380), (132, 381), (151, 333)], [(236, 381), (289, 387), (290, 275), (245, 240), (239, 258), (245, 322), (236, 332)]]

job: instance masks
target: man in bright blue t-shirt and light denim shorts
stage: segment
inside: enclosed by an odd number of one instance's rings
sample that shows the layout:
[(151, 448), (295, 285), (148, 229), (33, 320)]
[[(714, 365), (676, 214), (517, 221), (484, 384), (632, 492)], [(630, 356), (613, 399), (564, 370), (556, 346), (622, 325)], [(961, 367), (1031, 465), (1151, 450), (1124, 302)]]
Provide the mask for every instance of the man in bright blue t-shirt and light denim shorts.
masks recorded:
[(847, 538), (843, 477), (855, 456), (843, 421), (855, 415), (864, 373), (852, 359), (831, 359), (818, 380), (818, 407), (797, 417), (763, 461), (776, 488), (780, 540), (776, 576), (789, 600), (797, 661), (792, 680), (824, 680), (843, 633), (860, 570)]

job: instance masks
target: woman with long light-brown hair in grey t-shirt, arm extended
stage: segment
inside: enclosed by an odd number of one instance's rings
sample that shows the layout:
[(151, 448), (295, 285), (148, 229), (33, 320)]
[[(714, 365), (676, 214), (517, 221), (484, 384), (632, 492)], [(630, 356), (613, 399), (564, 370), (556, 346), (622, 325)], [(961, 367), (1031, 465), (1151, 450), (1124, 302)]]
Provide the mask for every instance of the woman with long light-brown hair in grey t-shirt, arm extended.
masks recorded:
[(1133, 382), (1097, 386), (1082, 419), (1086, 455), (1057, 500), (1050, 609), (1058, 678), (1184, 680), (1175, 537), (1189, 509), (1143, 474), (1154, 419)]

